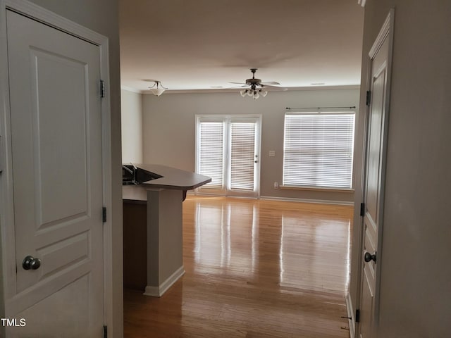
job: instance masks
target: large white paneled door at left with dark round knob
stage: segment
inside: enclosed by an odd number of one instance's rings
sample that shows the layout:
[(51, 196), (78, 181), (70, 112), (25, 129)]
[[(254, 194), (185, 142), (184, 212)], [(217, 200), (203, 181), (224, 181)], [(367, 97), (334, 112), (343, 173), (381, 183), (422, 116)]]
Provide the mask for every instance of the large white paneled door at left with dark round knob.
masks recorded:
[(26, 323), (8, 337), (101, 337), (99, 46), (6, 18), (16, 275), (5, 302), (7, 317)]

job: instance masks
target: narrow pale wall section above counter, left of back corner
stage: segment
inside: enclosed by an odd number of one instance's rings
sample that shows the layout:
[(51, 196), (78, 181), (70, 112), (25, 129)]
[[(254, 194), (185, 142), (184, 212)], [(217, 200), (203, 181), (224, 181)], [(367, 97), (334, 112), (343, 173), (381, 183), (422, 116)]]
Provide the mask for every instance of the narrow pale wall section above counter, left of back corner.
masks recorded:
[(142, 163), (142, 94), (121, 89), (122, 163)]

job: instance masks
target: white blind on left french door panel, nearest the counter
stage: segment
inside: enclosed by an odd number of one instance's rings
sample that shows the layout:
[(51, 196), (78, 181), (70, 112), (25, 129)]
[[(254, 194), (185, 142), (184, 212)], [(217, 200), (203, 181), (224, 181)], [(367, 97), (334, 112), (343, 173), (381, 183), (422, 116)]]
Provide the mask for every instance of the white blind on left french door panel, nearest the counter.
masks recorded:
[(199, 123), (199, 174), (211, 177), (205, 187), (224, 186), (224, 123)]

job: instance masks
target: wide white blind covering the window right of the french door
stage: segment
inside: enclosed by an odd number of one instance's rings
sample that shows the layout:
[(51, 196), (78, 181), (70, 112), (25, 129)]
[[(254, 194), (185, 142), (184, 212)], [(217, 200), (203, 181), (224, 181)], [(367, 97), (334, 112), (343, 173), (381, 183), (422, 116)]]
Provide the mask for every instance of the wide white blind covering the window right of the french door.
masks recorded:
[(283, 185), (351, 188), (354, 113), (285, 114)]

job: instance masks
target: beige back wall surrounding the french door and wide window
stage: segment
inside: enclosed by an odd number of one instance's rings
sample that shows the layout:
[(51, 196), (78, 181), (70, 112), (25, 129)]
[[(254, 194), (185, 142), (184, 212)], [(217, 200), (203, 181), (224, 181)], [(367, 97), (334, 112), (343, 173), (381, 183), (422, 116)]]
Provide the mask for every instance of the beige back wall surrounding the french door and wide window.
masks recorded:
[[(257, 100), (243, 98), (238, 92), (144, 94), (142, 102), (146, 163), (194, 171), (196, 114), (261, 114), (261, 196), (353, 201), (352, 193), (274, 189), (273, 184), (282, 183), (285, 107), (358, 107), (359, 89), (269, 92)], [(276, 151), (276, 157), (268, 156), (270, 150)]]

